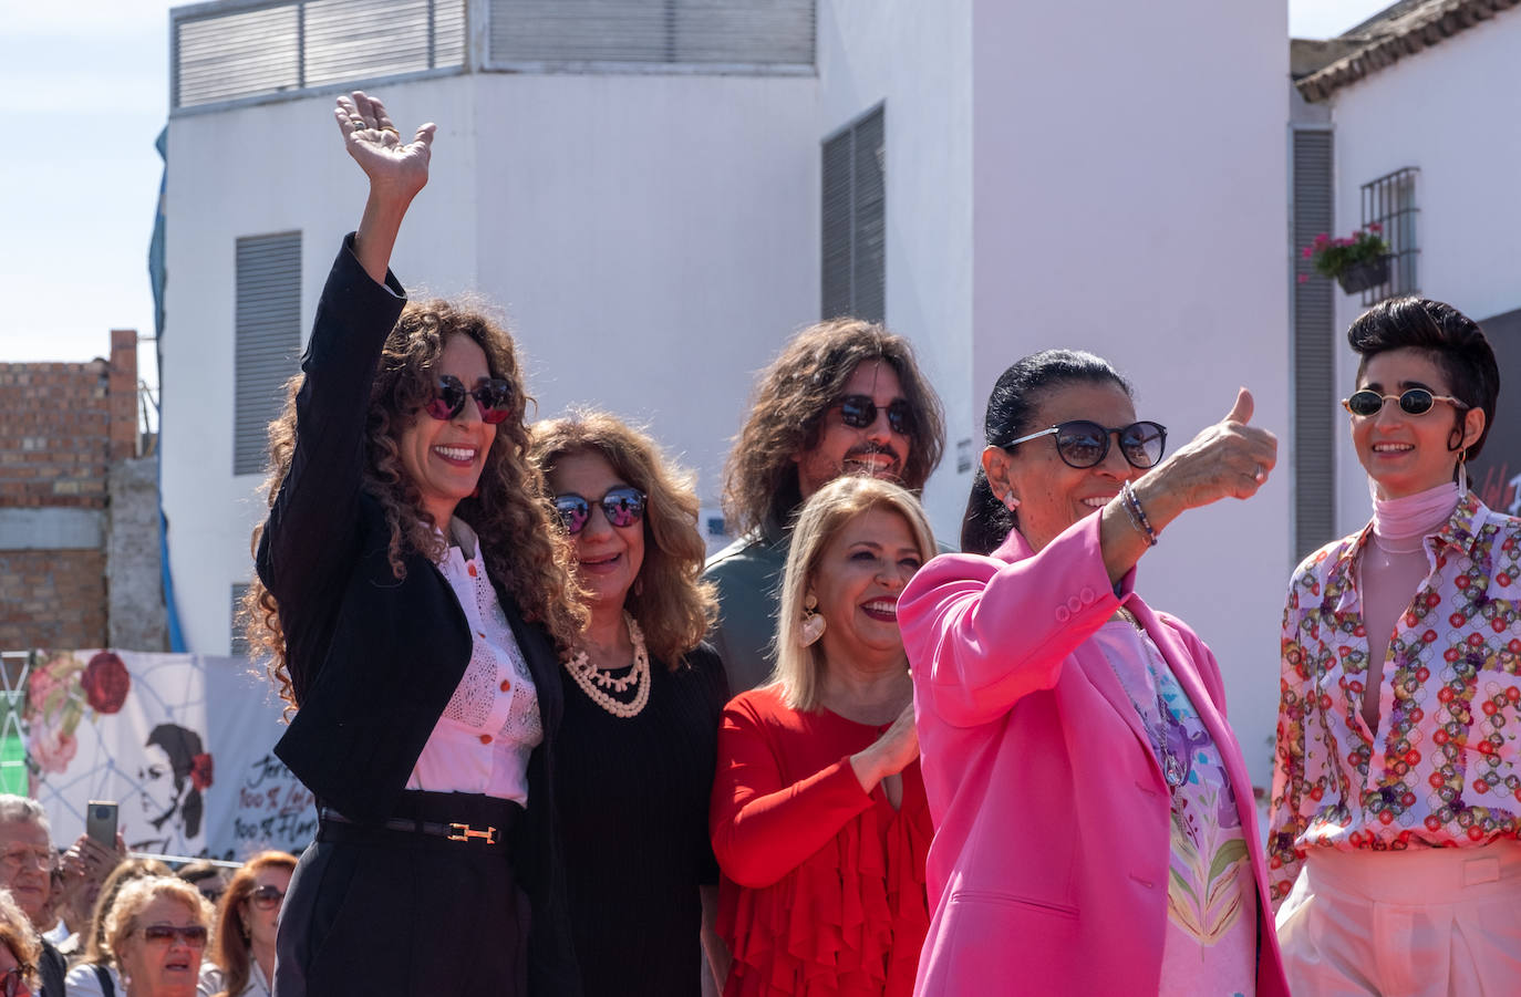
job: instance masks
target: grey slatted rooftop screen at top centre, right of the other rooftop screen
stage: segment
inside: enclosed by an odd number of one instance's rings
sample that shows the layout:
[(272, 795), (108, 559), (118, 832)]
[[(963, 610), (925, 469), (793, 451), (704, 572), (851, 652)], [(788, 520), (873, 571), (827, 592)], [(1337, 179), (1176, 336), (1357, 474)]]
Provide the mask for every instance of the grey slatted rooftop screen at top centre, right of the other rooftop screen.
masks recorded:
[(490, 0), (490, 65), (814, 65), (815, 0)]

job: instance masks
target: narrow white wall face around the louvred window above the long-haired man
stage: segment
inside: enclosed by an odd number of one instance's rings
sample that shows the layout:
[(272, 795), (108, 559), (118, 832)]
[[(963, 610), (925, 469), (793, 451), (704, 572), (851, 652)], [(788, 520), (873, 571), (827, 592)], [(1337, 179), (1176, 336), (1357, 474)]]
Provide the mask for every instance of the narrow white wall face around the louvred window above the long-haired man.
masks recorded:
[(976, 436), (987, 401), (972, 381), (970, 17), (970, 0), (820, 3), (811, 146), (817, 161), (824, 138), (885, 103), (887, 325), (913, 340), (946, 409), (946, 453), (923, 497), (951, 544), (972, 482), (957, 473), (957, 441)]

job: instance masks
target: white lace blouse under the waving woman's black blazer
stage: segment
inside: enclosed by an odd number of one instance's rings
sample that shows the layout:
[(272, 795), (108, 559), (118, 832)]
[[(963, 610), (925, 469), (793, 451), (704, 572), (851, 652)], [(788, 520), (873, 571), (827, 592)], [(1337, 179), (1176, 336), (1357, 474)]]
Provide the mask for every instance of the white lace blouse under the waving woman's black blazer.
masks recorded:
[(485, 573), (475, 530), (455, 518), (438, 564), (470, 623), (470, 664), (423, 745), (408, 789), (485, 793), (528, 806), (528, 755), (543, 740), (538, 693)]

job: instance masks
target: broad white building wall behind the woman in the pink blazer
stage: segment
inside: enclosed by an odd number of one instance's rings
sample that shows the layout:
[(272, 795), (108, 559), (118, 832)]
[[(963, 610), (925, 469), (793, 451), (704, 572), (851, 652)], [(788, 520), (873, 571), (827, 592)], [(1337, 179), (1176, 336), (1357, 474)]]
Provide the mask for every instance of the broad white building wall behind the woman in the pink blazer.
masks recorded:
[(1284, 5), (973, 9), (973, 394), (1078, 347), (1130, 377), (1170, 450), (1241, 385), (1279, 436), (1258, 495), (1183, 514), (1138, 581), (1214, 649), (1265, 786), (1291, 570)]

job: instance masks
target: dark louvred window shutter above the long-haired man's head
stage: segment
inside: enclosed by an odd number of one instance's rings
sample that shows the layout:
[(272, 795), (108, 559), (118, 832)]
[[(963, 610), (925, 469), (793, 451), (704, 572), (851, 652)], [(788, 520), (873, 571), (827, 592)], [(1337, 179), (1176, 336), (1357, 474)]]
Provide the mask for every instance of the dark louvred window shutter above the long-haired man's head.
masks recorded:
[(887, 122), (881, 105), (823, 146), (823, 318), (887, 321)]

